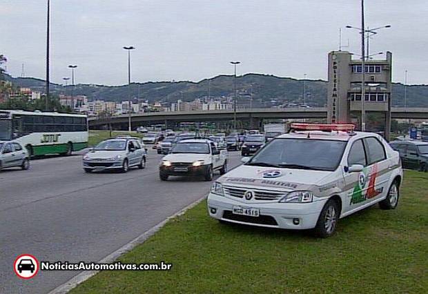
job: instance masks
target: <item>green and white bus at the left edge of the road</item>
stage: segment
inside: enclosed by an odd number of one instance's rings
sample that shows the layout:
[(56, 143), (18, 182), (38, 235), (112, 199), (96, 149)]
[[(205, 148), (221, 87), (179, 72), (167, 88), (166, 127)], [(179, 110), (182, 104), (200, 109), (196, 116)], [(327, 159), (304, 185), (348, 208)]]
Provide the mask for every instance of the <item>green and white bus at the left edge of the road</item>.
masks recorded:
[(61, 154), (88, 146), (86, 115), (0, 110), (0, 141), (17, 141), (30, 156)]

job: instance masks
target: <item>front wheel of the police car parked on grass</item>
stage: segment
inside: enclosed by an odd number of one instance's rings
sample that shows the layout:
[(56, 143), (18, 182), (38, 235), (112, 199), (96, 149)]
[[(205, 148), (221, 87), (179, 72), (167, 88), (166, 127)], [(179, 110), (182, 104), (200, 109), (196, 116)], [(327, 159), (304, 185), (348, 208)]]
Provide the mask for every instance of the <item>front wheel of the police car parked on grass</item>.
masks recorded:
[(320, 217), (315, 226), (315, 235), (326, 238), (333, 235), (338, 224), (339, 207), (338, 203), (330, 199), (322, 208)]

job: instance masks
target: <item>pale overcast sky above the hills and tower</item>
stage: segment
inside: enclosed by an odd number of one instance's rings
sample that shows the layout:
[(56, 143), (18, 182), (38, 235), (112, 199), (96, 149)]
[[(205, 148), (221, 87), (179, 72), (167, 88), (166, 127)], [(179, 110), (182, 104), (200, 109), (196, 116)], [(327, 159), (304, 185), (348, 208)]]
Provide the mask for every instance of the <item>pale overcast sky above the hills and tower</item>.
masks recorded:
[[(367, 26), (391, 24), (370, 43), (393, 52), (393, 81), (428, 84), (426, 0), (366, 0)], [(360, 53), (360, 0), (51, 0), (51, 81), (127, 82), (133, 45), (133, 81), (200, 81), (258, 72), (327, 79), (327, 53)], [(7, 69), (45, 77), (46, 0), (0, 0), (0, 54)]]

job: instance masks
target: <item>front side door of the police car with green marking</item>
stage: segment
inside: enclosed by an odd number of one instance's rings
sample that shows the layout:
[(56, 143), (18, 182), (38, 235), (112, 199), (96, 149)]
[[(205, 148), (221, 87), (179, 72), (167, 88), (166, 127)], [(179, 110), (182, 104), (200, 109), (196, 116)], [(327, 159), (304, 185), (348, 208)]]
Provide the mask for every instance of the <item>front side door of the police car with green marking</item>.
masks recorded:
[(347, 167), (353, 164), (364, 166), (361, 172), (349, 172), (344, 170), (345, 182), (345, 199), (343, 205), (343, 213), (350, 210), (355, 210), (362, 206), (365, 202), (365, 188), (367, 184), (367, 158), (362, 139), (354, 141), (349, 149), (347, 157)]

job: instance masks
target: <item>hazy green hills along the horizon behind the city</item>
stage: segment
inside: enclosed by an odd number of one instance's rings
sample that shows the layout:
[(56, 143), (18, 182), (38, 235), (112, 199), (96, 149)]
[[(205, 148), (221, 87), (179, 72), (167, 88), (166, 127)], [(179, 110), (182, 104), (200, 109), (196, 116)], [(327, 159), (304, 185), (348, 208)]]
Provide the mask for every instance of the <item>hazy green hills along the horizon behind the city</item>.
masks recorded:
[[(45, 81), (35, 78), (13, 78), (6, 76), (15, 86), (32, 88), (43, 91)], [(159, 81), (147, 83), (133, 83), (130, 85), (130, 96), (148, 99), (150, 102), (174, 102), (177, 99), (192, 101), (196, 98), (208, 96), (208, 84), (211, 97), (233, 95), (233, 76), (220, 75), (199, 82), (192, 81)], [(303, 80), (273, 75), (247, 74), (237, 77), (237, 91), (240, 101), (249, 101), (253, 97), (253, 104), (260, 107), (269, 107), (278, 103), (302, 103)], [(70, 94), (72, 86), (64, 87), (52, 84), (51, 90), (55, 94)], [(327, 82), (322, 80), (307, 80), (307, 104), (324, 106), (327, 101)], [(405, 87), (402, 84), (393, 84), (393, 106), (404, 106)], [(103, 99), (106, 101), (124, 101), (128, 99), (128, 86), (104, 86), (78, 84), (75, 86), (75, 95), (86, 95), (90, 100)], [(271, 102), (272, 101), (272, 102)], [(407, 106), (428, 107), (428, 86), (414, 85), (407, 88)]]

